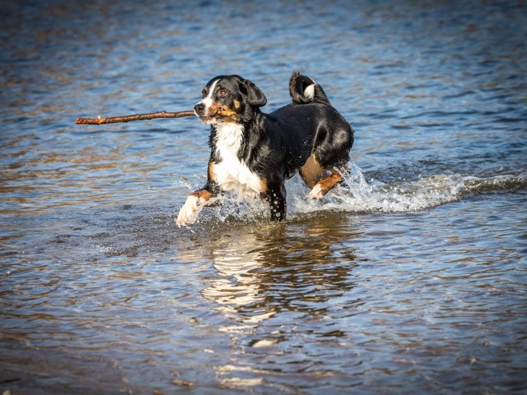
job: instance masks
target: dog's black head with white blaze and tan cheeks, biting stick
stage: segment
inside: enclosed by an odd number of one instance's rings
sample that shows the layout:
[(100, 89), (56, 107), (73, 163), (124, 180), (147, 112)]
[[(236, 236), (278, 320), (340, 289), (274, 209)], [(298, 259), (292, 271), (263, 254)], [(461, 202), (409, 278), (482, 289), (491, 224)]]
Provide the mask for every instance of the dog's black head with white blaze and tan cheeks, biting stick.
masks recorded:
[(240, 76), (217, 76), (202, 91), (194, 112), (203, 123), (243, 123), (267, 98), (259, 87)]

